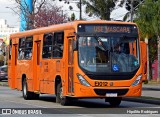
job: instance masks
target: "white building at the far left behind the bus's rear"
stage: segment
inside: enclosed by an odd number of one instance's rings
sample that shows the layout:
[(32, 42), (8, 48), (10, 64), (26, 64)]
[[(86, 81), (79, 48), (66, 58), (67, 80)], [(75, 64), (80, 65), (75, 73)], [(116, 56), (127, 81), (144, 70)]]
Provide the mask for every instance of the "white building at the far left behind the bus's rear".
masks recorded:
[(6, 44), (9, 43), (9, 35), (19, 32), (19, 27), (9, 27), (5, 19), (0, 19), (0, 39)]

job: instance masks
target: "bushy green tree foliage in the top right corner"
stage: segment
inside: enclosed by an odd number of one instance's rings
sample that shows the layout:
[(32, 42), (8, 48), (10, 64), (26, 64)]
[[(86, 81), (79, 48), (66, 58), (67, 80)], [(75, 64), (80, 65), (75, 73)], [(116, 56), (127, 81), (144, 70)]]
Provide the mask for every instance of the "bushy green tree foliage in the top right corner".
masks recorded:
[(149, 38), (160, 34), (160, 0), (146, 0), (138, 9), (135, 22), (138, 24), (142, 37)]

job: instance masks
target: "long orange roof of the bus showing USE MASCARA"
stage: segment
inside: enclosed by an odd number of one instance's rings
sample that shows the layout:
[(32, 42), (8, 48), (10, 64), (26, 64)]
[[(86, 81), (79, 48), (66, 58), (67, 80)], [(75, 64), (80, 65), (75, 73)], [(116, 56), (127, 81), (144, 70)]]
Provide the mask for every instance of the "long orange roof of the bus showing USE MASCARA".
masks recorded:
[(10, 38), (25, 37), (25, 36), (31, 36), (31, 35), (41, 34), (41, 33), (49, 33), (49, 32), (54, 32), (54, 31), (75, 29), (75, 27), (78, 24), (132, 24), (132, 25), (136, 25), (135, 23), (132, 23), (132, 22), (121, 22), (121, 21), (76, 20), (73, 22), (56, 24), (56, 25), (51, 25), (51, 26), (47, 26), (47, 27), (41, 27), (41, 28), (37, 28), (37, 29), (33, 29), (33, 30), (27, 30), (27, 31), (23, 31), (23, 32), (14, 33), (14, 34), (10, 35)]

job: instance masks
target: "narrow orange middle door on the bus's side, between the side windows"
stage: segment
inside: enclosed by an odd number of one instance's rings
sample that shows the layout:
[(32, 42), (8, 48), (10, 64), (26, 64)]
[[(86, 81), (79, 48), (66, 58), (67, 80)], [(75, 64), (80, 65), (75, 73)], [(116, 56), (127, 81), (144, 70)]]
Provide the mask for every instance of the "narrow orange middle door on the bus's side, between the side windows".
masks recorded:
[(39, 91), (39, 82), (40, 82), (40, 48), (41, 48), (41, 41), (35, 41), (35, 53), (34, 53), (34, 91)]

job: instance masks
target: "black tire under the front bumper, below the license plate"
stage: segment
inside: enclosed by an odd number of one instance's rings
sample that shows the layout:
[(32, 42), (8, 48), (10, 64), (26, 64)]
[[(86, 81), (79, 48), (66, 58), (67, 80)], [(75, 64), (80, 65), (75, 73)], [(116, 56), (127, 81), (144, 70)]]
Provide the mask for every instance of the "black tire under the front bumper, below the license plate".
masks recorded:
[(106, 98), (106, 102), (109, 102), (112, 107), (118, 107), (121, 104), (121, 97)]

